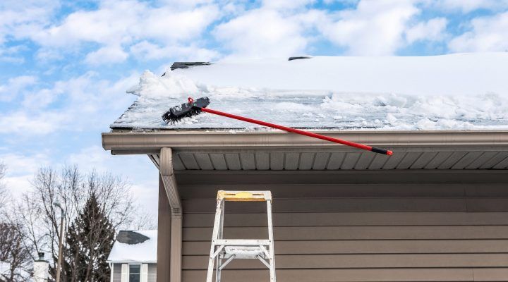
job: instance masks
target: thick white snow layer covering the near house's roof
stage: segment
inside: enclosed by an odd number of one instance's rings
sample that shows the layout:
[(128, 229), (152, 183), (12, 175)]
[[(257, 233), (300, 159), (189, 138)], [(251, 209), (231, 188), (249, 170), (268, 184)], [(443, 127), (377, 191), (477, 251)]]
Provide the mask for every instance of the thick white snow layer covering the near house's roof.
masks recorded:
[(162, 77), (145, 71), (128, 90), (137, 101), (111, 128), (260, 128), (211, 114), (162, 121), (188, 96), (207, 96), (210, 109), (296, 128), (508, 129), (506, 73), (506, 52), (219, 61)]

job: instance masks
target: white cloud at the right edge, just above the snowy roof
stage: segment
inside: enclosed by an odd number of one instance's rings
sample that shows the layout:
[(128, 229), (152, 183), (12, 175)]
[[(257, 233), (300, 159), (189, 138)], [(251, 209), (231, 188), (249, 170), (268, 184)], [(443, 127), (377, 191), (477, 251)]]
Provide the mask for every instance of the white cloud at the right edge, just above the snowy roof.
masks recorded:
[(455, 52), (508, 51), (508, 12), (474, 18), (471, 30), (449, 42)]

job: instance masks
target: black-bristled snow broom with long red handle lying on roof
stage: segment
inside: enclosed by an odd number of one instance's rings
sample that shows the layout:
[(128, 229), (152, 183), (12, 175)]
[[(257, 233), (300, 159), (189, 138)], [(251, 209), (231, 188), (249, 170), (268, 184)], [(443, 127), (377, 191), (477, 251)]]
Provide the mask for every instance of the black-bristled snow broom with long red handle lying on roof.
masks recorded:
[(195, 100), (193, 98), (189, 97), (187, 103), (181, 104), (180, 106), (172, 107), (171, 109), (169, 109), (169, 111), (167, 111), (166, 113), (164, 113), (162, 115), (162, 119), (164, 119), (164, 121), (166, 121), (166, 123), (174, 124), (178, 121), (181, 121), (181, 119), (183, 119), (183, 118), (190, 118), (192, 116), (197, 116), (198, 114), (201, 114), (204, 111), (206, 113), (216, 114), (218, 116), (225, 116), (226, 118), (234, 118), (234, 119), (237, 119), (238, 121), (246, 121), (248, 123), (255, 123), (255, 124), (267, 126), (270, 128), (277, 128), (280, 130), (287, 131), (289, 133), (306, 135), (308, 137), (326, 140), (329, 142), (335, 142), (335, 143), (339, 143), (339, 144), (346, 145), (346, 146), (356, 147), (358, 149), (364, 149), (364, 150), (367, 150), (370, 152), (375, 152), (378, 154), (386, 154), (388, 156), (392, 156), (392, 154), (393, 154), (392, 151), (387, 150), (387, 149), (370, 147), (368, 145), (363, 145), (360, 143), (351, 142), (351, 141), (347, 141), (347, 140), (341, 140), (339, 138), (320, 135), (317, 133), (310, 133), (305, 130), (299, 130), (296, 128), (289, 128), (289, 127), (286, 127), (283, 125), (277, 125), (274, 123), (267, 123), (265, 121), (258, 121), (253, 118), (245, 118), (243, 116), (236, 116), (234, 114), (227, 114), (222, 111), (215, 111), (212, 109), (207, 109), (207, 106), (209, 104), (210, 104), (210, 99), (208, 99), (208, 97), (201, 97), (201, 98), (195, 99)]

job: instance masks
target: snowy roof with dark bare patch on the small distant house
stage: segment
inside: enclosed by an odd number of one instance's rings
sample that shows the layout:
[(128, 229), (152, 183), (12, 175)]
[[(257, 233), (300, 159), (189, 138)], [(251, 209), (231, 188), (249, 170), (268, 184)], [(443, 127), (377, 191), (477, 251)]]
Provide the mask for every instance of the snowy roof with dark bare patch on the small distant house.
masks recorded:
[(107, 261), (157, 263), (157, 230), (119, 231)]

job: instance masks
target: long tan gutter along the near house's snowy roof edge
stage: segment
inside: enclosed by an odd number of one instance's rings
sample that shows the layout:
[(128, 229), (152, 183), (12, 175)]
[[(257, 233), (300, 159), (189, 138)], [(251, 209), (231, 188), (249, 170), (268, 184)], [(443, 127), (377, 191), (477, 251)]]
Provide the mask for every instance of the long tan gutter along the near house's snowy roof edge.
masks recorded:
[[(442, 131), (331, 131), (315, 133), (388, 148), (411, 147), (506, 147), (508, 130)], [(173, 149), (262, 149), (330, 148), (349, 151), (346, 146), (280, 131), (218, 132), (208, 130), (164, 130), (154, 132), (102, 133), (102, 147), (111, 154), (158, 154)]]

